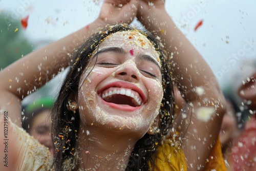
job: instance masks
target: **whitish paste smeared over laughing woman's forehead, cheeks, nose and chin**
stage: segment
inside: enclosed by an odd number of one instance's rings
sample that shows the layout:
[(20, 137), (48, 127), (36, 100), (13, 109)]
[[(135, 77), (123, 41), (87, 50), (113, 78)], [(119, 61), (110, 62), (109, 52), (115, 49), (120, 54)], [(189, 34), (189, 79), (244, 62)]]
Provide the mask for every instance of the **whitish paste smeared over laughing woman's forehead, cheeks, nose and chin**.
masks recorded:
[[(118, 37), (119, 36), (119, 37)], [(132, 36), (132, 38), (131, 38)], [(121, 37), (121, 38), (120, 38)], [(153, 57), (155, 61), (160, 66), (159, 54), (152, 46), (151, 42), (146, 39), (144, 35), (139, 32), (118, 32), (110, 35), (108, 38), (102, 42), (99, 50), (103, 48), (110, 48), (116, 46), (117, 38), (121, 39), (121, 43), (118, 44), (120, 47), (127, 47), (128, 49), (134, 49), (134, 52), (140, 52), (143, 54), (148, 54), (148, 56)], [(115, 40), (115, 41), (113, 41)], [(125, 41), (126, 40), (126, 41)], [(119, 41), (119, 40), (118, 40)], [(127, 43), (128, 42), (128, 43)], [(143, 42), (143, 45), (141, 45)], [(128, 45), (127, 45), (128, 44)], [(130, 45), (129, 45), (130, 44)], [(99, 100), (99, 95), (97, 94), (96, 87), (101, 81), (104, 81), (105, 78), (111, 77), (112, 81), (117, 81), (115, 78), (115, 72), (124, 67), (125, 65), (129, 65), (130, 67), (136, 67), (135, 63), (136, 54), (134, 54), (130, 59), (127, 59), (124, 63), (115, 67), (114, 69), (102, 68), (95, 66), (94, 69), (89, 67), (89, 69), (83, 74), (81, 81), (84, 80), (86, 75), (89, 74), (87, 80), (81, 82), (81, 89), (79, 90), (79, 103), (83, 105), (83, 110), (79, 108), (80, 115), (82, 120), (86, 120), (86, 124), (90, 124), (90, 122), (96, 122), (100, 125), (109, 125), (108, 127), (115, 127), (116, 129), (123, 130), (129, 129), (140, 132), (141, 135), (144, 135), (146, 131), (150, 128), (152, 122), (156, 118), (159, 113), (159, 108), (161, 105), (161, 99), (163, 97), (163, 90), (161, 85), (161, 80), (146, 78), (144, 77), (140, 71), (137, 69), (136, 73), (140, 77), (143, 77), (143, 80), (146, 82), (146, 88), (148, 93), (147, 100), (150, 104), (146, 104), (142, 109), (137, 110), (135, 112), (131, 112), (131, 115), (127, 115), (127, 111), (118, 111), (112, 110), (117, 114), (110, 114), (110, 106), (105, 106), (102, 104), (102, 101)], [(112, 72), (110, 72), (110, 70)], [(95, 79), (101, 79), (98, 83), (95, 83)], [(140, 83), (134, 83), (139, 89), (145, 89), (145, 85), (142, 87)], [(79, 105), (80, 105), (79, 104)], [(122, 115), (122, 112), (124, 115)], [(87, 115), (87, 116), (83, 116)], [(89, 117), (89, 122), (87, 117)]]

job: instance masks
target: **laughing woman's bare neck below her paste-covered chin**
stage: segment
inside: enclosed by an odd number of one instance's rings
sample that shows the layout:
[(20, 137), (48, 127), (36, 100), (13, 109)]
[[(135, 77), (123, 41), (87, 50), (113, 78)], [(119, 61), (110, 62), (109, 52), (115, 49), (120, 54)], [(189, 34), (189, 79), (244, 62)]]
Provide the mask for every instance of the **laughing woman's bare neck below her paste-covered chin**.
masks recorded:
[(94, 130), (81, 134), (78, 142), (81, 169), (125, 170), (136, 140), (128, 134)]

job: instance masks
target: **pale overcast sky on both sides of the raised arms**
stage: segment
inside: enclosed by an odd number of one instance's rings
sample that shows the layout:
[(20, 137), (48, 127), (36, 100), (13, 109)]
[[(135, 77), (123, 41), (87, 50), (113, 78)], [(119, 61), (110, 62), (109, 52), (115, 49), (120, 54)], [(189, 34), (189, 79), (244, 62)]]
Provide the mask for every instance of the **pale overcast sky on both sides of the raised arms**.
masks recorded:
[[(9, 12), (13, 19), (29, 15), (27, 29), (20, 31), (33, 42), (45, 43), (91, 23), (100, 4), (91, 0), (0, 0), (0, 11)], [(221, 85), (232, 81), (234, 72), (245, 72), (241, 63), (256, 59), (255, 7), (256, 1), (250, 0), (166, 0), (169, 15), (203, 55)], [(203, 25), (194, 31), (200, 20)]]

